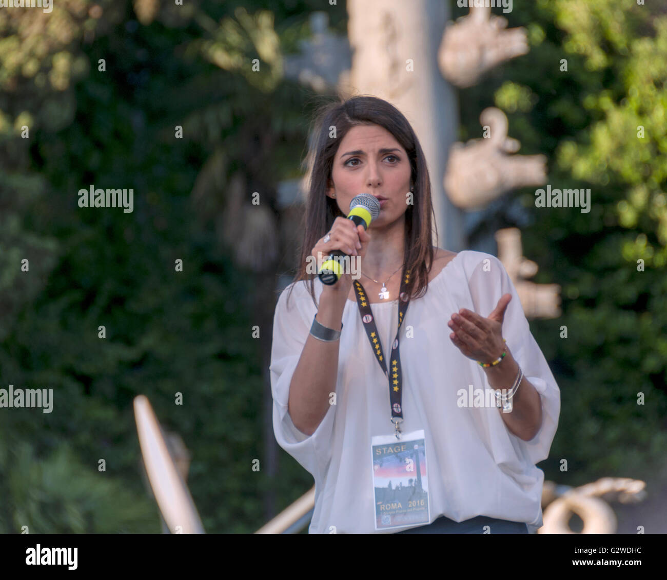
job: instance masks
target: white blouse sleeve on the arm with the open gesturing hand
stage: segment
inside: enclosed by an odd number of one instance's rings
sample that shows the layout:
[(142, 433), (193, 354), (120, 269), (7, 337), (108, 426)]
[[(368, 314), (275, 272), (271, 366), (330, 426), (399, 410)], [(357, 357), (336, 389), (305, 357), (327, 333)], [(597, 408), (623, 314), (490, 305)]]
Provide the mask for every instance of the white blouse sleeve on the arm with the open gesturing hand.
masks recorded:
[[(468, 286), (476, 313), (488, 317), (498, 305), (502, 295), (506, 293), (512, 295), (512, 300), (505, 310), (502, 335), (512, 350), (514, 359), (524, 371), (524, 377), (540, 394), (542, 425), (535, 437), (530, 441), (524, 441), (507, 429), (500, 413), (498, 419), (505, 427), (514, 451), (535, 465), (549, 456), (549, 449), (556, 435), (560, 415), (560, 389), (542, 350), (530, 332), (519, 295), (504, 265), (494, 255), (483, 252), (474, 254), (477, 259), (468, 263)], [(486, 377), (483, 370), (482, 373)], [(492, 442), (492, 445), (501, 447), (499, 441)], [(503, 455), (500, 449), (494, 449), (494, 453), (496, 451)]]

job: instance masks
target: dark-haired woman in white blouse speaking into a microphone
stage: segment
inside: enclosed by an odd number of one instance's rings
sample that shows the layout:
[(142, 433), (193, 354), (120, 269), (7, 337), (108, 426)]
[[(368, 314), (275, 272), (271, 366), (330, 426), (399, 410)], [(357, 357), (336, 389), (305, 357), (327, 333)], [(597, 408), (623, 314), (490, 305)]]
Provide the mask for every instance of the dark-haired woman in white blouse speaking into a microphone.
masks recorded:
[[(312, 143), (270, 366), (275, 437), (315, 479), (309, 533), (533, 533), (560, 392), (502, 263), (432, 245), (424, 153), (386, 101), (327, 105)], [(359, 193), (384, 199), (368, 231), (345, 218)], [(335, 249), (350, 268), (323, 285), (308, 265)]]

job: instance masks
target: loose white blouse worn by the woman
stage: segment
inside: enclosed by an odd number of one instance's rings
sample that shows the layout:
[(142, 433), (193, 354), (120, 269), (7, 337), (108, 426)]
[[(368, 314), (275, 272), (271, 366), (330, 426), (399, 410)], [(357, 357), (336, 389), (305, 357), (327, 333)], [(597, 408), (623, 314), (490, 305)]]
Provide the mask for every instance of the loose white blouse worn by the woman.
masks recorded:
[[(315, 279), (318, 303), (321, 291), (322, 283)], [(503, 337), (542, 400), (542, 425), (530, 441), (508, 430), (500, 409), (457, 403), (461, 397), (457, 391), (470, 392), (468, 385), (492, 387), (484, 369), (452, 343), (447, 323), (461, 308), (488, 317), (508, 292), (512, 300), (505, 312)], [(398, 327), (398, 300), (370, 307), (382, 350), (388, 353)], [(394, 427), (388, 379), (368, 342), (356, 302), (348, 299), (343, 313), (336, 405), (329, 407), (310, 436), (296, 429), (287, 413), (289, 383), (316, 312), (305, 281), (283, 290), (275, 307), (269, 367), (275, 438), (315, 479), (309, 533), (396, 533), (416, 527), (375, 529), (370, 446), (374, 435), (392, 435)], [(425, 433), (430, 521), (440, 515), (457, 522), (485, 515), (525, 522), (535, 533), (542, 526), (544, 482), (544, 472), (535, 464), (549, 455), (558, 426), (560, 390), (498, 258), (461, 251), (429, 283), (426, 295), (410, 300), (401, 327), (400, 361), (402, 431)]]

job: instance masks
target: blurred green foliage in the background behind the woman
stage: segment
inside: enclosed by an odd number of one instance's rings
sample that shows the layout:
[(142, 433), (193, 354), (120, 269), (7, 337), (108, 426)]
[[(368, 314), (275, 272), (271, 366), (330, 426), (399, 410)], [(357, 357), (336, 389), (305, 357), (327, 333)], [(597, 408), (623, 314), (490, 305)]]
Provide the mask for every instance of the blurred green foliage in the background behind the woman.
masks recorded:
[[(55, 397), (53, 413), (0, 409), (0, 532), (159, 532), (141, 478), (140, 393), (192, 454), (207, 531), (255, 531), (267, 491), (284, 507), (312, 485), (282, 451), (279, 477), (250, 469), (264, 453), (253, 279), (216, 229), (229, 184), (205, 178), (211, 167), (274, 186), (299, 175), (309, 95), (282, 78), (280, 54), (315, 9), (60, 0), (51, 15), (0, 11), (0, 387)], [(346, 33), (344, 3), (325, 9)], [(540, 467), (571, 485), (647, 477), (664, 469), (667, 439), (667, 21), (604, 0), (538, 0), (509, 19), (528, 28), (530, 54), (462, 91), (462, 138), (479, 137), (480, 111), (496, 105), (521, 153), (548, 155), (553, 187), (592, 189), (587, 214), (510, 196), (534, 217), (523, 237), (536, 281), (564, 287), (562, 317), (531, 324), (562, 389)], [(91, 184), (133, 188), (133, 213), (77, 207)]]

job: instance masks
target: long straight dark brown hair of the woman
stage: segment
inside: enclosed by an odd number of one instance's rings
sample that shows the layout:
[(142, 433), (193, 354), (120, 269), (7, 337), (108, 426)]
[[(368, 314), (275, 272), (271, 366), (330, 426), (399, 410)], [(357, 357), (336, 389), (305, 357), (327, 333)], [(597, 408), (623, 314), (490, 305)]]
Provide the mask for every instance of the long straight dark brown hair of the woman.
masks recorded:
[[(394, 135), (408, 153), (410, 159), (413, 203), (406, 209), (405, 259), (406, 269), (411, 272), (406, 291), (411, 298), (426, 294), (428, 273), (434, 259), (432, 224), (434, 219), (431, 199), (431, 182), (426, 167), (426, 158), (417, 135), (408, 119), (394, 105), (383, 99), (357, 95), (347, 100), (333, 101), (319, 107), (311, 124), (307, 164), (310, 173), (308, 198), (303, 214), (303, 241), (300, 248), (299, 265), (294, 281), (309, 280), (310, 295), (315, 302), (315, 277), (307, 273), (307, 257), (317, 241), (333, 226), (336, 217), (346, 217), (340, 211), (336, 199), (326, 195), (331, 181), (333, 158), (345, 135), (356, 125), (380, 125)], [(336, 137), (330, 137), (335, 127)], [(436, 231), (436, 236), (438, 235)], [(294, 289), (292, 285), (289, 294)], [(289, 295), (287, 295), (289, 301)]]

